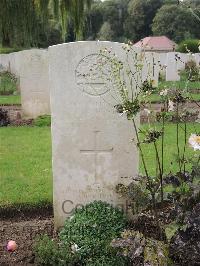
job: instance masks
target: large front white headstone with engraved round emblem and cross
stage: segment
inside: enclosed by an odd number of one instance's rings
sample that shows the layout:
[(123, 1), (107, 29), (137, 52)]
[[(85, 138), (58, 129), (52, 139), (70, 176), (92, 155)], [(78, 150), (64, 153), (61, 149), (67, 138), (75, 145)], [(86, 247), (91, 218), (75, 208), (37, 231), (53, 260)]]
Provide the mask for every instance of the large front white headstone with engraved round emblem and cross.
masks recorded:
[(73, 208), (94, 200), (125, 207), (115, 186), (138, 174), (132, 123), (114, 110), (119, 95), (109, 84), (105, 62), (99, 72), (98, 54), (104, 47), (112, 47), (122, 61), (126, 58), (118, 43), (49, 48), (56, 227)]

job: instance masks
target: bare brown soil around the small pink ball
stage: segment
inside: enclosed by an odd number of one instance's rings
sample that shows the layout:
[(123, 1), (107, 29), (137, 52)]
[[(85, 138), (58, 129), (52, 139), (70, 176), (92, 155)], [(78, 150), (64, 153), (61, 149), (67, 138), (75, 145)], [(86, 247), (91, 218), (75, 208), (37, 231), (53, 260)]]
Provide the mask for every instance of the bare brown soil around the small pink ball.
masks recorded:
[[(29, 213), (18, 212), (14, 217), (1, 215), (0, 219), (0, 265), (35, 265), (33, 243), (37, 236), (47, 234), (54, 237), (53, 216), (49, 209), (29, 210)], [(6, 245), (9, 240), (16, 241), (15, 252), (8, 252)]]

